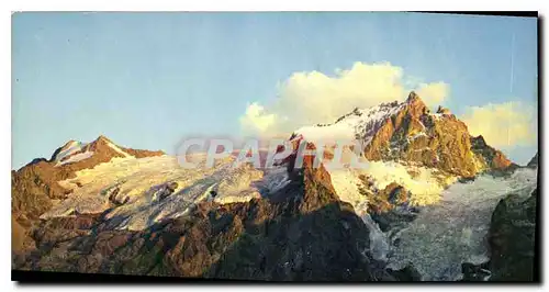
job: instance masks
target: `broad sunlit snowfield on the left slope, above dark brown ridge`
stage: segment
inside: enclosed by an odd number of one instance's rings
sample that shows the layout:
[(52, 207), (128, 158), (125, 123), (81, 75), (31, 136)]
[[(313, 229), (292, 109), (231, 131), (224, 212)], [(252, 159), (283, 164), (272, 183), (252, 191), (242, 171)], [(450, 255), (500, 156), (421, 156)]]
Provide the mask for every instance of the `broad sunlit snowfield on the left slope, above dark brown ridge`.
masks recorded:
[[(202, 168), (204, 159), (198, 160), (201, 160), (198, 169), (184, 169), (172, 156), (113, 158), (93, 169), (78, 171), (74, 179), (60, 181), (72, 194), (41, 217), (110, 210), (105, 217), (112, 228), (137, 231), (164, 218), (181, 216), (202, 200), (246, 202), (288, 183), (285, 168), (269, 170), (264, 178), (264, 171), (249, 165), (233, 168), (234, 157), (216, 160), (214, 168)], [(173, 182), (177, 188), (161, 199)]]

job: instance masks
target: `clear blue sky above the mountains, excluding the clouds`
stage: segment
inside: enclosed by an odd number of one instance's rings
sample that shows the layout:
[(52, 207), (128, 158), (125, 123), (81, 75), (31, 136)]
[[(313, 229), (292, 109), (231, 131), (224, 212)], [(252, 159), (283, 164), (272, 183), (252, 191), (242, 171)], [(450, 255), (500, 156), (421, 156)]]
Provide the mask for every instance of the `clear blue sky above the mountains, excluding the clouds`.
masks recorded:
[[(330, 75), (356, 61), (447, 82), (445, 105), (458, 115), (507, 101), (537, 106), (535, 19), (16, 13), (12, 25), (13, 168), (100, 134), (168, 153), (187, 134), (238, 134), (248, 104), (272, 102), (293, 72)], [(504, 151), (524, 164), (536, 149)]]

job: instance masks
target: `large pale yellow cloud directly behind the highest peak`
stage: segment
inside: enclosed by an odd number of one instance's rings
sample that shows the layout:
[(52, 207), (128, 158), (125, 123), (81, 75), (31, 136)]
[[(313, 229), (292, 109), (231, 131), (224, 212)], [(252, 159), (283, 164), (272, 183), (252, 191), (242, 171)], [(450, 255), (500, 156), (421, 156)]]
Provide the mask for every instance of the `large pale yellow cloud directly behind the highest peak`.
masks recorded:
[[(407, 88), (403, 79), (410, 78), (403, 78), (403, 69), (390, 63), (357, 61), (350, 69), (335, 70), (333, 77), (318, 71), (294, 72), (280, 85), (279, 98), (273, 104), (249, 104), (240, 123), (247, 134), (264, 135), (288, 134), (304, 125), (333, 123), (357, 106), (363, 109), (404, 100), (415, 88)], [(430, 104), (432, 101), (441, 102), (448, 96), (448, 86), (444, 82), (421, 83), (417, 89), (428, 96), (425, 102), (432, 106), (438, 105)]]

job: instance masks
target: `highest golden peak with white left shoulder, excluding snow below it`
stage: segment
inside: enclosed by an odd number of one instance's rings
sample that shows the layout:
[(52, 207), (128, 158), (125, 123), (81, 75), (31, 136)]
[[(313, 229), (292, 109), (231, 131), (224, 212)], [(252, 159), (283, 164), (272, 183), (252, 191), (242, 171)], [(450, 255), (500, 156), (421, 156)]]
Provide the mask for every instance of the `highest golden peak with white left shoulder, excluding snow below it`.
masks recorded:
[(448, 109), (432, 113), (413, 91), (404, 102), (355, 109), (333, 124), (302, 127), (295, 134), (312, 141), (357, 138), (370, 161), (415, 164), (460, 177), (512, 165), (482, 136), (471, 136)]

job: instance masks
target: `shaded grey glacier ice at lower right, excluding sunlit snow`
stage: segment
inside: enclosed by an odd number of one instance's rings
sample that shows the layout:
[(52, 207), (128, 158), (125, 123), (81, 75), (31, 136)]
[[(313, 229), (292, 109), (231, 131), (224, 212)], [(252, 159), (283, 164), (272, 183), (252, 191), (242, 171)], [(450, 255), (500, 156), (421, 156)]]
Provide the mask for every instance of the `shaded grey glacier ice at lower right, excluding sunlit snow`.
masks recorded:
[(534, 169), (518, 169), (507, 179), (480, 176), (468, 183), (455, 183), (442, 191), (438, 204), (421, 207), (417, 218), (400, 231), (397, 245), (396, 237), (379, 233), (373, 239), (393, 242), (390, 250), (380, 251), (388, 254), (390, 268), (413, 262), (423, 280), (457, 280), (462, 262), (478, 265), (489, 259), (485, 236), (497, 202), (508, 193), (527, 198), (536, 183)]

